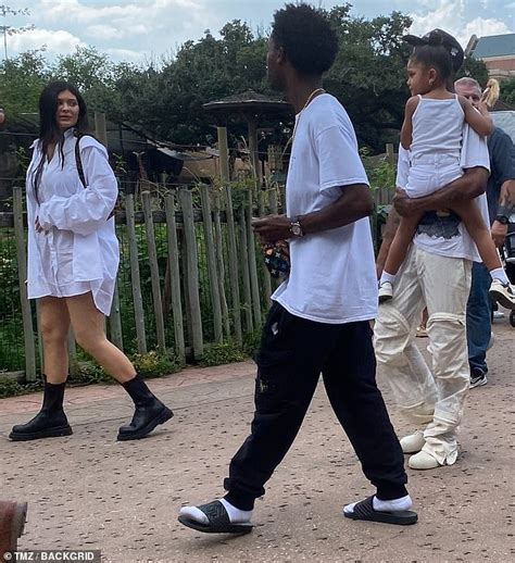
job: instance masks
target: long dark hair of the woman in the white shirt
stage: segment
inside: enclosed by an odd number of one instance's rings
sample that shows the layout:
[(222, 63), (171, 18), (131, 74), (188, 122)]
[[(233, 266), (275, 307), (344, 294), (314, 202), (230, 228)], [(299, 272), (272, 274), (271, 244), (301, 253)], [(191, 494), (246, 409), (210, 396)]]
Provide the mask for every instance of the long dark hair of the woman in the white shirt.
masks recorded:
[(59, 128), (56, 120), (58, 97), (64, 90), (68, 90), (77, 98), (78, 120), (75, 125), (76, 133), (80, 136), (88, 129), (88, 109), (77, 88), (73, 84), (62, 80), (50, 83), (39, 96), (39, 142), (41, 147), (41, 159), (32, 175), (34, 195), (38, 203), (38, 188), (50, 143), (55, 142), (55, 148), (59, 146), (61, 165), (64, 166), (64, 135)]

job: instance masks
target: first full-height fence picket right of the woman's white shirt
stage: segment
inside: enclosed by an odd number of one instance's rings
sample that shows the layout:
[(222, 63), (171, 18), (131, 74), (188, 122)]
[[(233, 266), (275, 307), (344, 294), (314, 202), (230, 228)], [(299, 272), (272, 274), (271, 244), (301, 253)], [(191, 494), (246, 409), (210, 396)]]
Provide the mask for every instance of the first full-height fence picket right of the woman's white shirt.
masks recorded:
[(136, 238), (136, 221), (134, 212), (134, 193), (125, 196), (125, 213), (127, 217), (127, 236), (129, 241), (130, 255), (130, 283), (133, 286), (134, 314), (136, 323), (136, 340), (138, 352), (147, 353), (147, 336), (145, 333), (145, 310), (141, 297), (141, 279), (139, 277), (139, 252)]

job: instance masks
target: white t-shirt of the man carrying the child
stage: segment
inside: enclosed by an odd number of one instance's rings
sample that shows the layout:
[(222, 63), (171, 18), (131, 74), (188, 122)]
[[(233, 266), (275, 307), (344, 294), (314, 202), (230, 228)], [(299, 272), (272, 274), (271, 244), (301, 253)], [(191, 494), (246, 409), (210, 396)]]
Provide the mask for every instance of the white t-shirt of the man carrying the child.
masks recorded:
[[(463, 170), (481, 166), (490, 171), (487, 139), (480, 137), (467, 124), (463, 128), (460, 165)], [(406, 185), (409, 171), (410, 152), (400, 146), (397, 171), (397, 185), (400, 188)], [(490, 225), (487, 196), (482, 193), (476, 198), (475, 202), (481, 212), (485, 224)], [(474, 240), (463, 223), (454, 215), (438, 216), (435, 213), (426, 215), (423, 224), (418, 225), (413, 241), (418, 248), (431, 254), (481, 262)]]

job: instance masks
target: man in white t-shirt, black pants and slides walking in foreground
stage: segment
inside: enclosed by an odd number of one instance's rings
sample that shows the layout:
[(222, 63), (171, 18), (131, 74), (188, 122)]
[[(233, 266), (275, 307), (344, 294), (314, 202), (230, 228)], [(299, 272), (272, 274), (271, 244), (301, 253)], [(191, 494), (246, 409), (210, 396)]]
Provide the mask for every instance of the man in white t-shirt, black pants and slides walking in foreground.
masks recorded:
[(338, 41), (306, 4), (275, 13), (271, 84), (297, 118), (287, 180), (287, 215), (254, 222), (262, 241), (290, 239), (289, 278), (273, 296), (256, 358), (251, 435), (233, 458), (227, 495), (185, 506), (179, 522), (200, 531), (250, 531), (264, 485), (292, 445), (322, 373), (331, 406), (377, 493), (346, 506), (354, 520), (413, 524), (402, 451), (375, 380), (369, 321), (377, 282), (367, 216), (373, 201), (343, 108), (322, 89)]

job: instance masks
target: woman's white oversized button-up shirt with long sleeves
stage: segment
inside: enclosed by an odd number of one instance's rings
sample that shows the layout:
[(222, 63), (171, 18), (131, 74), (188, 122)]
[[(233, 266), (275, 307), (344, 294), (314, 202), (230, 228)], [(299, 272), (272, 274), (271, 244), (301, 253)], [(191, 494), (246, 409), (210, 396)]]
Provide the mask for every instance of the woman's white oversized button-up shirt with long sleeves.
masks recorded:
[[(41, 147), (33, 145), (27, 171), (29, 299), (72, 297), (91, 291), (104, 315), (111, 304), (120, 262), (114, 218), (109, 218), (118, 193), (108, 152), (92, 137), (80, 139), (86, 188), (76, 163), (73, 129), (64, 134), (64, 165), (61, 147), (46, 159), (36, 199), (33, 180), (41, 160)], [(38, 203), (39, 200), (39, 203)], [(36, 233), (35, 221), (45, 229)]]

